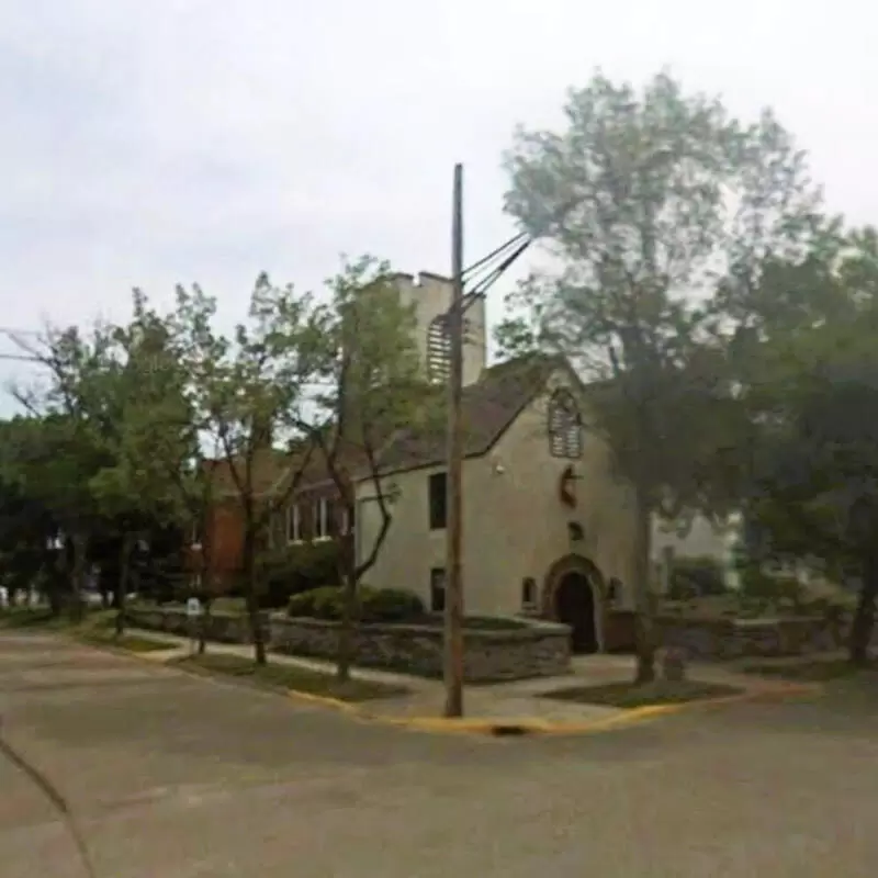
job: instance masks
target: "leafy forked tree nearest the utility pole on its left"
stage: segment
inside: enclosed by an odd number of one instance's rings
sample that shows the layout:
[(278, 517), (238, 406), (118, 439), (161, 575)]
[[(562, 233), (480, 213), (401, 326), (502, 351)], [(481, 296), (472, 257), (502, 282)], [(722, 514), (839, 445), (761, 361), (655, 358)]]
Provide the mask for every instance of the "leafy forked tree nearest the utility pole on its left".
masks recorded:
[[(399, 300), (390, 268), (371, 257), (347, 262), (328, 283), (328, 306), (315, 309), (302, 347), (316, 351), (313, 415), (297, 426), (325, 465), (338, 503), (344, 585), (338, 679), (350, 675), (358, 585), (378, 560), (392, 522), (393, 496), (382, 479), (380, 451), (399, 430), (424, 421), (435, 391), (420, 368), (412, 308)], [(380, 526), (371, 545), (354, 551), (354, 480), (370, 484)], [(346, 527), (347, 526), (347, 527)]]

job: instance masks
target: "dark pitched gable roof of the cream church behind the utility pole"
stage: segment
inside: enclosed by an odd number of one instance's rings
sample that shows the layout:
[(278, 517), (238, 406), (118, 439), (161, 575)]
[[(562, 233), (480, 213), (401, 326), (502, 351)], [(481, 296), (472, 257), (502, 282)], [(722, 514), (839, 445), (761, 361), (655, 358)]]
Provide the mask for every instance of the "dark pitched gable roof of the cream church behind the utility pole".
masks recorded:
[[(462, 419), (466, 458), (486, 454), (521, 410), (545, 386), (550, 375), (566, 367), (563, 357), (531, 354), (486, 369), (463, 389)], [(384, 473), (434, 466), (446, 460), (446, 428), (438, 418), (430, 429), (398, 435), (380, 458)]]

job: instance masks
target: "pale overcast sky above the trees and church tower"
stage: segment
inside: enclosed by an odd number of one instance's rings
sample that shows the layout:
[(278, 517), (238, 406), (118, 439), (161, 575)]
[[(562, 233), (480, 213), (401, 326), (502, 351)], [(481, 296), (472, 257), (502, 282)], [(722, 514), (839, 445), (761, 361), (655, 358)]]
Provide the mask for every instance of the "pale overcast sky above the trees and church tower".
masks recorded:
[(342, 251), (447, 272), (453, 162), (471, 261), (514, 230), (513, 126), (556, 122), (596, 66), (640, 83), (667, 65), (745, 117), (772, 104), (831, 206), (878, 219), (863, 18), (853, 0), (0, 0), (0, 325), (121, 317), (133, 285), (178, 281), (232, 319), (259, 271), (314, 286)]

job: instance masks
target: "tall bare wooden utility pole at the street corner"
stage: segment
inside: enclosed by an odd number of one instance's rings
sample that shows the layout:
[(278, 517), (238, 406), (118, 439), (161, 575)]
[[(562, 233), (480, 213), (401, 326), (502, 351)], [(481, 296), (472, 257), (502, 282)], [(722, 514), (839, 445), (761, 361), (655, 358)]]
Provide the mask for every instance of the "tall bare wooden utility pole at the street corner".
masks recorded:
[(451, 348), (448, 406), (448, 508), (446, 536), (446, 630), (444, 684), (446, 717), (463, 716), (463, 166), (454, 166), (454, 195), (451, 211), (451, 273), (453, 289), (448, 313)]

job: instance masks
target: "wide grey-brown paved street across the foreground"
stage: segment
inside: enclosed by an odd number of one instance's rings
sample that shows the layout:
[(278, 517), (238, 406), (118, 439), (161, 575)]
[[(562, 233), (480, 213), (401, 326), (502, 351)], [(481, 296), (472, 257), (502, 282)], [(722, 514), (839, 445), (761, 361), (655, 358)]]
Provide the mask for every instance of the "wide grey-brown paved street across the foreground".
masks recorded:
[[(876, 702), (435, 736), (0, 634), (3, 734), (70, 801), (100, 878), (871, 875)], [(83, 878), (3, 759), (0, 790), (0, 878)]]

